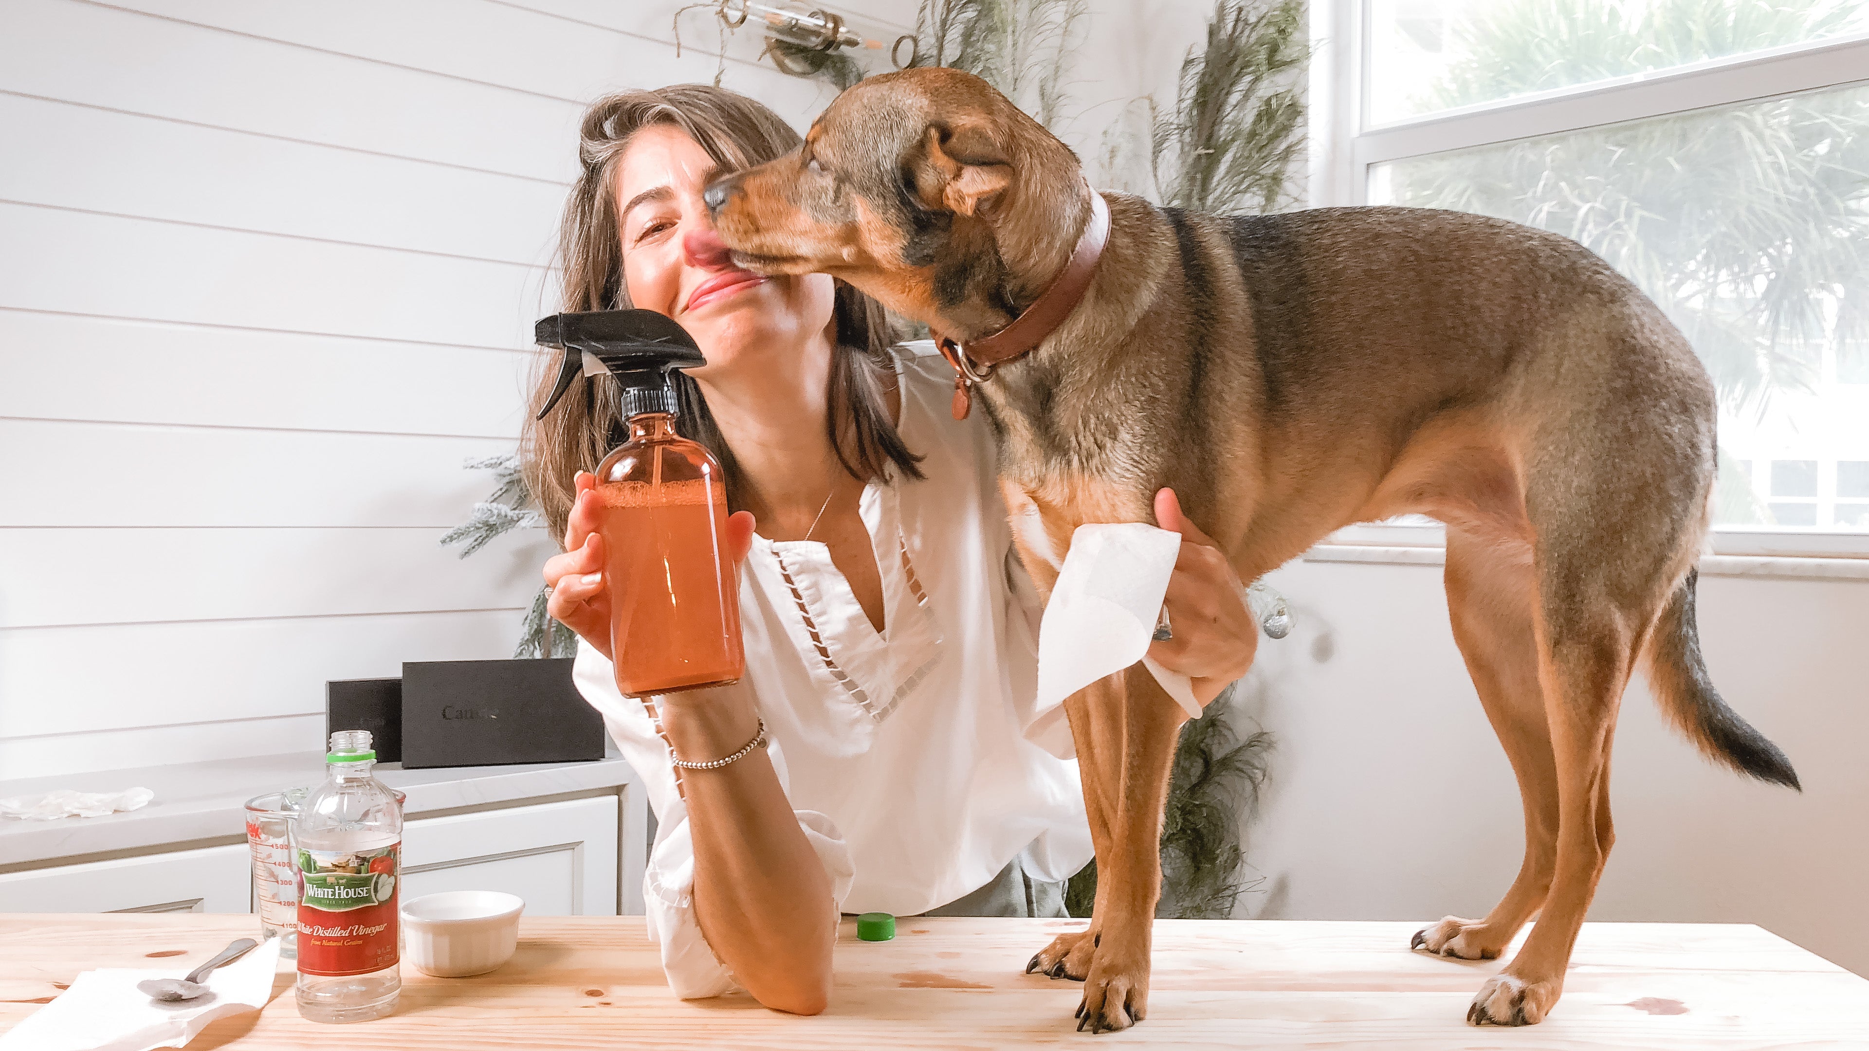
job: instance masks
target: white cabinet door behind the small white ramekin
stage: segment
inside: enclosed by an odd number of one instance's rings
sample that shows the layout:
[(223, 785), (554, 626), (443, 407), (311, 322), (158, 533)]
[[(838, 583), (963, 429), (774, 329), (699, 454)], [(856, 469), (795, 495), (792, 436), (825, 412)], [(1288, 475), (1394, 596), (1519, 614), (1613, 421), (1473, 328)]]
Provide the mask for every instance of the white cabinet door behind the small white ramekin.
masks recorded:
[(505, 890), (527, 916), (617, 914), (617, 797), (419, 817), (402, 830), (402, 900)]

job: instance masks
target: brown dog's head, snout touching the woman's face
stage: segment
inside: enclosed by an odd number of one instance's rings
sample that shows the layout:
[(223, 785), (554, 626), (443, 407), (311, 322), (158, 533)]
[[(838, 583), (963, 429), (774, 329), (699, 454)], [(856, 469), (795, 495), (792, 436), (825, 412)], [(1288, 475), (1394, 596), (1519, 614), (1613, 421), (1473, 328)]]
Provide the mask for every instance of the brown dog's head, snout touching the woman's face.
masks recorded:
[(804, 146), (703, 200), (735, 264), (830, 273), (966, 337), (1056, 273), (1073, 241), (1058, 223), (1084, 193), (1071, 150), (985, 80), (905, 69), (837, 95)]

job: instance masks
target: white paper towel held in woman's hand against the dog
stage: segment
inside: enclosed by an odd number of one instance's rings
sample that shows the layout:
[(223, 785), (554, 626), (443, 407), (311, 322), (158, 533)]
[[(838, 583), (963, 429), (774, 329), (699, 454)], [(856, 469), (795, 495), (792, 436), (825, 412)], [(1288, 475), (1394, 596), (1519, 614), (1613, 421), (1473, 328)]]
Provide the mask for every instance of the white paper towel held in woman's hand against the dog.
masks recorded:
[(1148, 658), (1181, 533), (1142, 522), (1078, 526), (1039, 621), (1039, 711), (1142, 662), (1168, 696), (1200, 718), (1187, 675)]

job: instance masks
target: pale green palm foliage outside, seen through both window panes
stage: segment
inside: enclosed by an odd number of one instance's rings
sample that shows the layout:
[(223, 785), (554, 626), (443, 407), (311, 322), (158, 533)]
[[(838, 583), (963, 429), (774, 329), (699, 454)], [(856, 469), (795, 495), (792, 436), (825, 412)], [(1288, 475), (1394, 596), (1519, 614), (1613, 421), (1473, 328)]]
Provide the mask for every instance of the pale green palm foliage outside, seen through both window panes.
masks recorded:
[[(1503, 0), (1452, 26), (1428, 107), (1512, 97), (1830, 36), (1837, 0)], [(1564, 234), (1647, 292), (1721, 404), (1813, 389), (1869, 331), (1869, 88), (1828, 90), (1404, 161), (1394, 204)]]

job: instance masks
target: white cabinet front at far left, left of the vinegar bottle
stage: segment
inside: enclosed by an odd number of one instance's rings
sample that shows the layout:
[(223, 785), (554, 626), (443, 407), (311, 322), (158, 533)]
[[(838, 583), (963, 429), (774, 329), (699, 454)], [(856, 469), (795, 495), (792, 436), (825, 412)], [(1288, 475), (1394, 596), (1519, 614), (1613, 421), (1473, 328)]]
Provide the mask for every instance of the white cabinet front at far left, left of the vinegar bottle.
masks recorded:
[(247, 843), (0, 875), (0, 913), (250, 913)]

